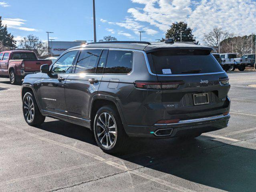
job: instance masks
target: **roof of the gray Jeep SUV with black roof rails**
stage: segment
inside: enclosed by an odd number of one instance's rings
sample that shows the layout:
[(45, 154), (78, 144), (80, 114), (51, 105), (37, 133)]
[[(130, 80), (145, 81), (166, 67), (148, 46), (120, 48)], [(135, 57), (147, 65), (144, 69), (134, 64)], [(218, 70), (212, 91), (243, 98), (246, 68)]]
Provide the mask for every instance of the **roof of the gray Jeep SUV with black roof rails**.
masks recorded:
[(174, 42), (174, 43), (165, 43), (165, 42), (134, 42), (134, 41), (113, 41), (113, 42), (97, 42), (89, 43), (82, 46), (77, 46), (70, 48), (120, 48), (120, 49), (134, 49), (134, 50), (143, 50), (145, 52), (150, 52), (155, 49), (169, 49), (169, 48), (199, 48), (212, 50), (211, 47), (195, 44), (194, 42)]

